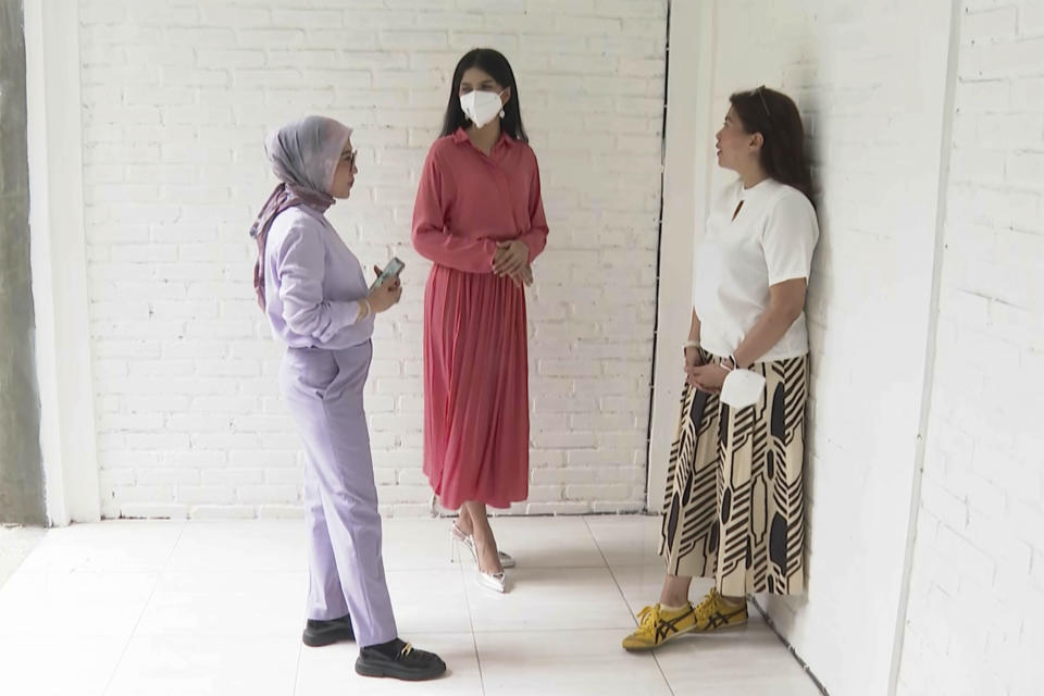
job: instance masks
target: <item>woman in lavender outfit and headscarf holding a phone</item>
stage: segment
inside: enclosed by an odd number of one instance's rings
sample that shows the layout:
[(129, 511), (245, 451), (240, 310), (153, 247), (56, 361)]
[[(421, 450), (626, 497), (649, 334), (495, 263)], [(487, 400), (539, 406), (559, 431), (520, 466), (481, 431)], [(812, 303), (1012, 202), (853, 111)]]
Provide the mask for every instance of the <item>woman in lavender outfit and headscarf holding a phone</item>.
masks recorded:
[(395, 625), (362, 398), (374, 318), (402, 289), (396, 279), (370, 293), (358, 259), (324, 216), (355, 183), (351, 129), (309, 116), (279, 128), (265, 149), (281, 183), (250, 229), (254, 290), (287, 346), (279, 386), (307, 455), (304, 643), (356, 639), (359, 674), (433, 679), (446, 664), (399, 639)]

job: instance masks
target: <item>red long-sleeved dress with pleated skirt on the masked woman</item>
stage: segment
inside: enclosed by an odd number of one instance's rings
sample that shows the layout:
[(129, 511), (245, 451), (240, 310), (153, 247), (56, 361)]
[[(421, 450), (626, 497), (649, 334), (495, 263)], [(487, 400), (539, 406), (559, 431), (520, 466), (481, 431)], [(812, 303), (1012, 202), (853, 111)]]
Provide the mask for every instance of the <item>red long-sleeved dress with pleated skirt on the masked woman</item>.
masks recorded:
[(493, 274), (497, 243), (547, 243), (536, 156), (502, 134), (487, 157), (463, 129), (424, 162), (413, 246), (434, 262), (424, 291), (424, 473), (443, 507), (507, 508), (530, 477), (525, 295)]

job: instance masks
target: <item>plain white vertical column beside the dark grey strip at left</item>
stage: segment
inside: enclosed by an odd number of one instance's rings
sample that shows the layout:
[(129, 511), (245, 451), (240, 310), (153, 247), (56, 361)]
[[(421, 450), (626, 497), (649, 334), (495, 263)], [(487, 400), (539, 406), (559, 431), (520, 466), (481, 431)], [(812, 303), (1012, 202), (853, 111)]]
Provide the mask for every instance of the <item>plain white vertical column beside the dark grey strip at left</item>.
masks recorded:
[(26, 0), (29, 226), (40, 446), (52, 524), (100, 519), (84, 235), (79, 12)]

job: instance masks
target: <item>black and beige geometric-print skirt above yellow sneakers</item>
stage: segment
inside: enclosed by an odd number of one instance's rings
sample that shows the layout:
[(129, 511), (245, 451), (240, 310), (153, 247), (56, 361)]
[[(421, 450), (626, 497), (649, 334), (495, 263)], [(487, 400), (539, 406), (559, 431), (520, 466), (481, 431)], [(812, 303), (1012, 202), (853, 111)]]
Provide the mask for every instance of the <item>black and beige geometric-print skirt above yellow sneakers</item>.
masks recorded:
[(732, 409), (685, 385), (660, 555), (669, 574), (712, 576), (726, 597), (799, 594), (808, 356), (750, 369), (766, 380), (756, 406)]

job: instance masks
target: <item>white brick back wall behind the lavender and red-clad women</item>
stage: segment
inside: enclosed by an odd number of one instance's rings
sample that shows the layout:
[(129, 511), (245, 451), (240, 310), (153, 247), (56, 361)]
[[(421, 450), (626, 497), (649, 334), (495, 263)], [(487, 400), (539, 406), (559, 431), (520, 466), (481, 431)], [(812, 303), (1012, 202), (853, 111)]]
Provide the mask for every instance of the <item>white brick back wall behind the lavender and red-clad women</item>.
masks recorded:
[(80, 3), (84, 188), (103, 514), (272, 517), (298, 504), (279, 349), (250, 287), (260, 144), (321, 112), (360, 175), (331, 219), (407, 262), (368, 393), (386, 512), (423, 513), (417, 175), (458, 58), (502, 50), (540, 160), (524, 512), (641, 509), (655, 304), (666, 1)]

